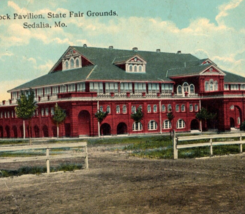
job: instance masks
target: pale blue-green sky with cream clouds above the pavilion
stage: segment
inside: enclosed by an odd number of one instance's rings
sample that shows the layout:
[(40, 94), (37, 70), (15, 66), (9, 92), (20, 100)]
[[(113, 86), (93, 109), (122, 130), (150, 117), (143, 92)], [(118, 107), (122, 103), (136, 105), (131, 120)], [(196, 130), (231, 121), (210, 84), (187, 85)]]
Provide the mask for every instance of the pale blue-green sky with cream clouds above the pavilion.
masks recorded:
[[(245, 0), (1, 0), (0, 100), (47, 74), (70, 45), (181, 50), (245, 76), (244, 11)], [(33, 28), (40, 23), (48, 27)]]

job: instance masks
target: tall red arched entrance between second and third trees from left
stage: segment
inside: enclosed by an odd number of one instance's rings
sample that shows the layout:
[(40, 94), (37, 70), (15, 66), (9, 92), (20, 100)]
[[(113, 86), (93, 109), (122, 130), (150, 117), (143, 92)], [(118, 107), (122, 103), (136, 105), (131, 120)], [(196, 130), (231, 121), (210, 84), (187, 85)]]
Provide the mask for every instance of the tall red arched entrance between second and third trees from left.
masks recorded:
[(83, 110), (78, 115), (78, 135), (90, 135), (90, 114)]

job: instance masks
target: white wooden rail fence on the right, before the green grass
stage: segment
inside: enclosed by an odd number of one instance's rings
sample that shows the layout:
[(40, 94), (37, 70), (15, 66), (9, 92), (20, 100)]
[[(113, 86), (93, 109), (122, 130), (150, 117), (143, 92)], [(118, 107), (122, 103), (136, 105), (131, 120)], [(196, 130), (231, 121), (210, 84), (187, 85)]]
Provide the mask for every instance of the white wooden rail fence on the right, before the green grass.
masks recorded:
[[(218, 145), (239, 145), (240, 146), (240, 153), (242, 153), (242, 145), (245, 144), (245, 141), (242, 140), (242, 137), (245, 136), (245, 133), (236, 133), (236, 134), (216, 134), (216, 135), (195, 135), (195, 136), (183, 136), (183, 137), (177, 137), (174, 133), (173, 136), (173, 153), (174, 153), (174, 159), (178, 159), (178, 150), (179, 149), (186, 149), (186, 148), (193, 148), (193, 147), (210, 147), (210, 155), (213, 155), (213, 146)], [(225, 138), (239, 138), (238, 141), (219, 141), (215, 142), (215, 139), (225, 139)], [(208, 142), (206, 143), (194, 143), (194, 144), (183, 144), (178, 145), (178, 142), (181, 141), (192, 141), (192, 140), (203, 140), (207, 139)]]

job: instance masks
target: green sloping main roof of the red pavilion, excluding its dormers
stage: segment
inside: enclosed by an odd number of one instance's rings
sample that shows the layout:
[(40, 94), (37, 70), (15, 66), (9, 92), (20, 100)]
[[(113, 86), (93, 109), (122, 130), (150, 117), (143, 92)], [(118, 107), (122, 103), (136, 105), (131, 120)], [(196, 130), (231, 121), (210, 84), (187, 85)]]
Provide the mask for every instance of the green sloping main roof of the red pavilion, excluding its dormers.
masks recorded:
[[(66, 71), (53, 72), (53, 70), (51, 70), (48, 74), (31, 80), (12, 90), (93, 80), (172, 81), (170, 79), (171, 76), (197, 75), (202, 70), (210, 66), (200, 65), (203, 60), (199, 60), (191, 54), (76, 46), (69, 47), (67, 51), (70, 48), (75, 48), (83, 57), (91, 61), (93, 65)], [(61, 63), (64, 54), (54, 65), (54, 68)], [(117, 62), (126, 61), (135, 55), (138, 55), (146, 61), (147, 64), (145, 73), (127, 73), (125, 70), (116, 65)], [(225, 82), (245, 81), (244, 77), (240, 77), (228, 72), (225, 73), (227, 74), (225, 76)]]

